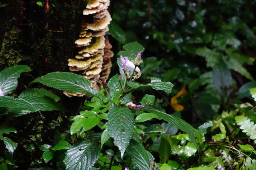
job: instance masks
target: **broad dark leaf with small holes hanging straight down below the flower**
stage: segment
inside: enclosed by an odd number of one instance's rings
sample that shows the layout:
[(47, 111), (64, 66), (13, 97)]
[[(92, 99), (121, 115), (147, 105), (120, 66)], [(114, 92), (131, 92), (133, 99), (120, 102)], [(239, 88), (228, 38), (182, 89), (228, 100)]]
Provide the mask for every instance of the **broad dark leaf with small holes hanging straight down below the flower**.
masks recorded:
[(107, 130), (114, 138), (114, 144), (119, 147), (121, 157), (130, 142), (134, 129), (134, 118), (127, 106), (115, 105), (108, 113)]

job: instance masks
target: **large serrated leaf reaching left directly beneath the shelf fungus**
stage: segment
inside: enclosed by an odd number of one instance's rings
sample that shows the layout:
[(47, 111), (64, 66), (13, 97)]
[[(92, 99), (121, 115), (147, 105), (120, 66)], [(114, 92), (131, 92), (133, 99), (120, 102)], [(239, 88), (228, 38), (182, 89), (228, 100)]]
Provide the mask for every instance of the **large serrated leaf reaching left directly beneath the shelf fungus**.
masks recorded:
[(59, 90), (98, 96), (98, 91), (91, 88), (91, 82), (88, 79), (68, 72), (49, 73), (46, 76), (36, 78), (32, 83), (42, 83)]

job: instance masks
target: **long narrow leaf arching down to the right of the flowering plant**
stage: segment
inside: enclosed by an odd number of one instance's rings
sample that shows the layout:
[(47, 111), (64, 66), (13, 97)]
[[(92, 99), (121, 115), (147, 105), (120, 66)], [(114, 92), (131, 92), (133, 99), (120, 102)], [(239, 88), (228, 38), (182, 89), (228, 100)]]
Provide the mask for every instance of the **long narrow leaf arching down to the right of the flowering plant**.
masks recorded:
[[(201, 141), (199, 140), (200, 134), (194, 127), (192, 127), (190, 124), (185, 122), (183, 119), (177, 118), (173, 115), (169, 115), (165, 112), (164, 109), (162, 109), (160, 107), (156, 107), (156, 106), (147, 106), (147, 107), (142, 108), (141, 110), (145, 110), (150, 113), (154, 113), (155, 115), (158, 116), (158, 118), (164, 119), (171, 125), (174, 125), (175, 127), (179, 128), (183, 132), (186, 132), (189, 135), (189, 137), (191, 138), (192, 142), (196, 145), (197, 149), (198, 150), (200, 149), (199, 144), (198, 144), (198, 143), (201, 143)], [(198, 138), (198, 140), (196, 138)]]

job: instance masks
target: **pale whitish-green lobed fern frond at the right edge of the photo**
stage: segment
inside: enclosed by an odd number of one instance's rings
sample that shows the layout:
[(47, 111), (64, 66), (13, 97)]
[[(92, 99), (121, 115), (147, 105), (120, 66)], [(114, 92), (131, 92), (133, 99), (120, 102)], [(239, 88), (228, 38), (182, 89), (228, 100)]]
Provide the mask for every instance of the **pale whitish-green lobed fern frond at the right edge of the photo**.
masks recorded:
[[(248, 119), (245, 116), (236, 116), (236, 123), (239, 125), (242, 132), (246, 133), (247, 136), (250, 136), (251, 139), (256, 139), (256, 124), (253, 121)], [(256, 140), (254, 141), (256, 143)]]

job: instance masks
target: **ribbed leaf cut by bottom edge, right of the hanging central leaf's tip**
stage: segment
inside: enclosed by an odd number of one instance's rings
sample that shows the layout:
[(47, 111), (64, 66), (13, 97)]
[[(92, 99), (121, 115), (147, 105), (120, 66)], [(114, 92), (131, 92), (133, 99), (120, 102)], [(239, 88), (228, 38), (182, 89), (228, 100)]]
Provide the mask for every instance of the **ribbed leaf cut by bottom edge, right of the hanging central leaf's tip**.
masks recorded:
[(152, 170), (150, 162), (154, 161), (154, 157), (145, 150), (143, 145), (132, 140), (126, 152), (139, 170)]

